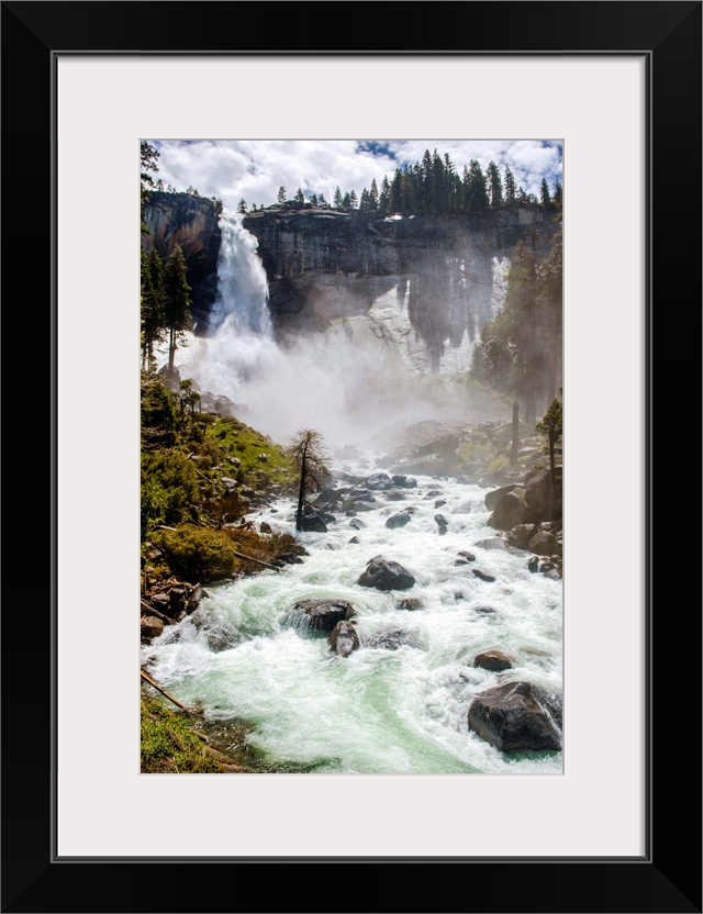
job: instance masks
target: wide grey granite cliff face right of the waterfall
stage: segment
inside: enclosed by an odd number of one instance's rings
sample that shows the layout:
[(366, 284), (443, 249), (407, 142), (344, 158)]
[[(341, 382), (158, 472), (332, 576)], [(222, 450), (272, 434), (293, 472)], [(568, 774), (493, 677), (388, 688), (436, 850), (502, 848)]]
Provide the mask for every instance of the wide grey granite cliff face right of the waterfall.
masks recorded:
[[(545, 256), (556, 231), (537, 205), (482, 215), (382, 216), (310, 207), (248, 214), (280, 338), (339, 321), (400, 348), (417, 370), (464, 370), (503, 301), (518, 239)], [(349, 323), (352, 322), (352, 323)]]

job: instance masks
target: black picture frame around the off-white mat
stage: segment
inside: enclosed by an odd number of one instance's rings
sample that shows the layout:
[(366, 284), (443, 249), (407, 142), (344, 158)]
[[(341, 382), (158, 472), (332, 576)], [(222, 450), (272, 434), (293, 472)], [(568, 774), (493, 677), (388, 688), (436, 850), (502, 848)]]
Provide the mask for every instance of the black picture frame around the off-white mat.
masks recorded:
[[(41, 378), (31, 397), (18, 397), (16, 377), (3, 391), (12, 431), (5, 455), (16, 447), (22, 458), (20, 465), (11, 458), (5, 462), (9, 490), (19, 488), (21, 501), (7, 519), (4, 550), (2, 911), (700, 912), (701, 617), (700, 600), (691, 605), (690, 597), (691, 580), (699, 580), (691, 559), (699, 550), (694, 553), (690, 539), (691, 531), (700, 528), (700, 515), (691, 520), (680, 509), (689, 490), (698, 492), (700, 486), (698, 478), (691, 486), (690, 475), (692, 453), (696, 477), (700, 466), (701, 384), (693, 368), (701, 365), (702, 3), (339, 2), (334, 16), (322, 18), (334, 36), (323, 36), (327, 41), (316, 51), (320, 40), (310, 23), (321, 21), (321, 9), (333, 8), (275, 2), (2, 3), (5, 341), (31, 368), (34, 383)], [(230, 27), (223, 27), (225, 22)], [(225, 35), (234, 36), (232, 46), (222, 45)], [(264, 43), (272, 45), (264, 52), (271, 54), (631, 53), (647, 58), (649, 801), (641, 859), (159, 858), (157, 832), (153, 858), (53, 857), (54, 63), (59, 53), (254, 53)], [(86, 151), (87, 174), (90, 158)], [(26, 341), (30, 332), (33, 352), (23, 353), (18, 341)], [(682, 398), (687, 415), (693, 412), (692, 422), (676, 409)], [(617, 408), (616, 391), (614, 401)], [(40, 427), (46, 430), (41, 446), (36, 431), (29, 431)], [(613, 471), (626, 472), (617, 466), (616, 443), (611, 449)], [(622, 535), (632, 534), (626, 519), (607, 520)], [(37, 567), (46, 578), (41, 597)], [(618, 707), (614, 694), (613, 707), (604, 713), (627, 714), (628, 709)], [(331, 838), (339, 827), (343, 822), (331, 822)], [(213, 869), (223, 866), (226, 874)], [(379, 866), (386, 870), (380, 879), (384, 889), (372, 890), (369, 877), (379, 876), (372, 869)]]

